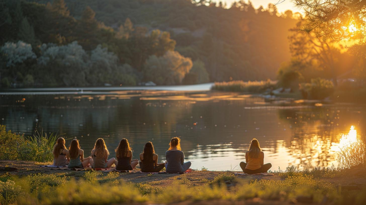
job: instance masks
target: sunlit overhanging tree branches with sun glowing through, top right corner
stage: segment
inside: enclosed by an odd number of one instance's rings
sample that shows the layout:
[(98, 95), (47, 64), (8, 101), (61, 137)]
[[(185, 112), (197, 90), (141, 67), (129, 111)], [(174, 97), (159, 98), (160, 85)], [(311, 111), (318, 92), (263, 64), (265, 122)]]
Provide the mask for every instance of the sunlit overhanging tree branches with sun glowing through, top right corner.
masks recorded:
[(317, 37), (366, 41), (366, 0), (294, 0), (305, 12), (301, 28)]

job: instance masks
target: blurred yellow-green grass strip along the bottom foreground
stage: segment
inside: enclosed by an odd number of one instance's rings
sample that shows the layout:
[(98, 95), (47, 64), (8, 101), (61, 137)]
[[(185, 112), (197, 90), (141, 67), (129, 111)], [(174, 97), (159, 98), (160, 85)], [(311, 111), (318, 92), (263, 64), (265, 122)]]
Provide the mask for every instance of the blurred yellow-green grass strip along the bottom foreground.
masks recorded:
[[(109, 174), (108, 174), (109, 175)], [(108, 176), (104, 175), (103, 176)], [(115, 178), (115, 176), (109, 176)], [(164, 189), (155, 184), (126, 183), (119, 180), (85, 181), (75, 180), (56, 174), (36, 174), (23, 178), (6, 178), (0, 182), (1, 204), (174, 204), (180, 201), (231, 200), (253, 198), (287, 202), (320, 203), (326, 198), (327, 204), (364, 204), (366, 189), (341, 190), (325, 180), (312, 175), (287, 176), (284, 180), (239, 181), (235, 186), (206, 184), (191, 186), (173, 183)]]

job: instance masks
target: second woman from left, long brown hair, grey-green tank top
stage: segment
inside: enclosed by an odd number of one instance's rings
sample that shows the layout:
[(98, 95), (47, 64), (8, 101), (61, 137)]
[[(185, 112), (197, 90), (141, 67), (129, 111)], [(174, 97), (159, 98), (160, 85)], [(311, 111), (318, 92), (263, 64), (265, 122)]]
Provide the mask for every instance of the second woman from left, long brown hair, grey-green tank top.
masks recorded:
[(84, 158), (84, 150), (80, 149), (79, 140), (77, 139), (71, 141), (67, 159), (70, 160), (68, 168), (84, 168), (88, 167), (89, 164), (93, 164), (91, 157)]

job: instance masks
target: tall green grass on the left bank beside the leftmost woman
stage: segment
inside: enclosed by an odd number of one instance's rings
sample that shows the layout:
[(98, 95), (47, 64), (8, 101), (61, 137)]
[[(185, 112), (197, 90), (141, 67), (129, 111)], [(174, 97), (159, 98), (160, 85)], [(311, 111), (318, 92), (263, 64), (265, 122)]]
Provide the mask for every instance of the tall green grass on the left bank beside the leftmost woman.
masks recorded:
[(47, 135), (37, 130), (33, 136), (25, 136), (6, 131), (0, 125), (0, 159), (25, 161), (53, 161), (52, 149), (58, 134)]

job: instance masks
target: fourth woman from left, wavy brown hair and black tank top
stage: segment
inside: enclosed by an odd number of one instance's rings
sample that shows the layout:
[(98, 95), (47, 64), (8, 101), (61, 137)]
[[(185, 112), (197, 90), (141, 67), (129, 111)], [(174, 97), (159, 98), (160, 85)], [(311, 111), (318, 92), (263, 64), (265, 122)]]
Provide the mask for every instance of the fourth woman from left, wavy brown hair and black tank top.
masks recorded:
[(123, 138), (120, 142), (116, 151), (116, 157), (118, 164), (116, 169), (118, 171), (128, 171), (132, 170), (138, 164), (138, 159), (132, 160), (132, 149), (126, 138)]

